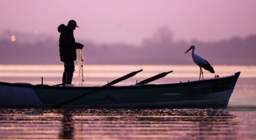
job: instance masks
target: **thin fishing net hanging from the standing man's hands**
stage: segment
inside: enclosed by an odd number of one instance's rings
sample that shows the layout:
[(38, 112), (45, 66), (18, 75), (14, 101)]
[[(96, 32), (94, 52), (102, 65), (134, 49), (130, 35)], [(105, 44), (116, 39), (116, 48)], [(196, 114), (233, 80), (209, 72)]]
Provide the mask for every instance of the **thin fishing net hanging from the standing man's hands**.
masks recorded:
[[(79, 74), (78, 74), (78, 79), (76, 79), (76, 83), (78, 82), (78, 86), (83, 86), (83, 49), (78, 49), (78, 52), (76, 53), (78, 55), (78, 66), (79, 66)], [(75, 86), (76, 86), (75, 83)]]

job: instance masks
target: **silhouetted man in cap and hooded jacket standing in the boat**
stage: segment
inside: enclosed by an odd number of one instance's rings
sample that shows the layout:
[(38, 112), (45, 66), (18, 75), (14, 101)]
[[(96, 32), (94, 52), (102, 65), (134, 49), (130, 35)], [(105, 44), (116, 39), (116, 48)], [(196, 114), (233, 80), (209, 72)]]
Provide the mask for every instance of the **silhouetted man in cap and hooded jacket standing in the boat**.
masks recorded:
[[(68, 25), (59, 25), (59, 57), (64, 63), (64, 72), (62, 84), (71, 84), (74, 73), (74, 61), (76, 61), (76, 49), (83, 48), (83, 45), (76, 43), (74, 39), (74, 30), (76, 30), (76, 21), (70, 20)], [(79, 28), (79, 27), (78, 27)]]

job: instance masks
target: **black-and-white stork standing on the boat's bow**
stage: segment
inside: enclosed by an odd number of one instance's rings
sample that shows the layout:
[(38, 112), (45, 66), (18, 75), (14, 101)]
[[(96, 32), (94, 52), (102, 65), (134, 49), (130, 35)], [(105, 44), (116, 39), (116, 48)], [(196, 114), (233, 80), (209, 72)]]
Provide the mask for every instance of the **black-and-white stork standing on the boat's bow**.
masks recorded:
[[(193, 61), (194, 63), (196, 63), (199, 67), (200, 67), (200, 76), (199, 76), (199, 80), (200, 80), (200, 77), (201, 77), (201, 72), (202, 72), (202, 68), (204, 68), (205, 70), (208, 70), (209, 72), (213, 73), (214, 74), (214, 70), (213, 70), (213, 67), (208, 63), (208, 61), (206, 61), (206, 59), (203, 59), (202, 57), (196, 55), (194, 52), (195, 52), (195, 46), (192, 45), (188, 50), (187, 52), (189, 52), (189, 50), (192, 49), (192, 58), (193, 58)], [(185, 54), (187, 53), (185, 52)], [(204, 79), (204, 74), (202, 72), (202, 79)]]

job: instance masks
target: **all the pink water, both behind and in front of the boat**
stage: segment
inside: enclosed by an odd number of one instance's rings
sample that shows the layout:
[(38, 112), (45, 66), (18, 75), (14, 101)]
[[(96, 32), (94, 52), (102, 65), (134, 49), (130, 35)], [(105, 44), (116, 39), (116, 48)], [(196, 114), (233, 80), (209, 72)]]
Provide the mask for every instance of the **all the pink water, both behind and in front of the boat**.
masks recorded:
[[(78, 66), (77, 66), (78, 67)], [(162, 72), (152, 83), (198, 79), (195, 65), (85, 65), (84, 86), (101, 86), (130, 72), (143, 72), (117, 83), (134, 85)], [(241, 72), (225, 109), (216, 108), (0, 108), (0, 139), (256, 139), (256, 66), (214, 66), (215, 74)], [(57, 85), (62, 65), (0, 65), (0, 81)], [(72, 83), (76, 83), (78, 70)]]

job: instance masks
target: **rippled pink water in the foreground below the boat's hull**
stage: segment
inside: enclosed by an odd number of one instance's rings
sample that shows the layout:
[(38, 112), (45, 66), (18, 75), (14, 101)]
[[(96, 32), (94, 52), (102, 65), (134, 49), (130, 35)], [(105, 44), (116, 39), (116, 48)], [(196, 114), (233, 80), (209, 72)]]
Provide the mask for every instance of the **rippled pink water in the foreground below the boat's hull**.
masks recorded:
[(255, 139), (255, 110), (0, 109), (1, 139)]

